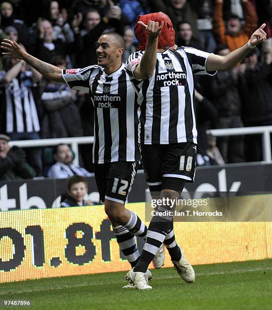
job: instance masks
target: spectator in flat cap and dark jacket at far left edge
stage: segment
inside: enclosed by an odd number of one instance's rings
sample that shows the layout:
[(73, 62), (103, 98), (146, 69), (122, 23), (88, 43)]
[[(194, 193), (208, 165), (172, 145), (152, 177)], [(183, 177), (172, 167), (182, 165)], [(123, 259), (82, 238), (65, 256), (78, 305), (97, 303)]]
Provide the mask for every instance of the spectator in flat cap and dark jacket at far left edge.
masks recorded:
[(0, 134), (0, 180), (30, 179), (35, 171), (25, 161), (25, 152), (17, 147), (10, 148), (10, 137)]

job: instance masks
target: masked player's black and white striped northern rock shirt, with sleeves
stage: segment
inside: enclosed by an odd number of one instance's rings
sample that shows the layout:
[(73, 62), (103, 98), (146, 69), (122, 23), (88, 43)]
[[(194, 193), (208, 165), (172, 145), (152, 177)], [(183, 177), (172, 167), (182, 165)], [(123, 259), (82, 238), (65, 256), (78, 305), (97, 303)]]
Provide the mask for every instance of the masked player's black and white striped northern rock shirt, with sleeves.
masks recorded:
[(188, 47), (158, 52), (153, 76), (139, 81), (133, 71), (144, 53), (131, 54), (126, 67), (138, 94), (140, 142), (197, 143), (193, 74), (216, 73), (205, 68), (211, 54)]

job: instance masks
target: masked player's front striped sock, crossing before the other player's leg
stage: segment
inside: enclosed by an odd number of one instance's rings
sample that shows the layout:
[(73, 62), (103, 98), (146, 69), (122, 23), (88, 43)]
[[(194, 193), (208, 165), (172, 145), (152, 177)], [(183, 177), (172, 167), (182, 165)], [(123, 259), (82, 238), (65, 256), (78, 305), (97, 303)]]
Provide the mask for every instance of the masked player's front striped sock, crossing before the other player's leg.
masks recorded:
[[(160, 207), (158, 208), (159, 211)], [(142, 254), (134, 267), (134, 272), (145, 273), (159, 247), (164, 242), (167, 231), (170, 229), (172, 217), (153, 216), (147, 231), (147, 240)]]

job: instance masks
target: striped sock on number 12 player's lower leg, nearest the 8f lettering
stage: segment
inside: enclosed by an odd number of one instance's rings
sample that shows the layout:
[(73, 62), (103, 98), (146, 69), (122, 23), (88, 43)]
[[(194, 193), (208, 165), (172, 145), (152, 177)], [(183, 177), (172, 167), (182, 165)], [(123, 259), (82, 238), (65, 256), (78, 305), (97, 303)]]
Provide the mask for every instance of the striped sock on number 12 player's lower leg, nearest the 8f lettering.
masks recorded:
[(113, 227), (113, 232), (122, 253), (133, 268), (140, 256), (135, 236), (123, 226)]

